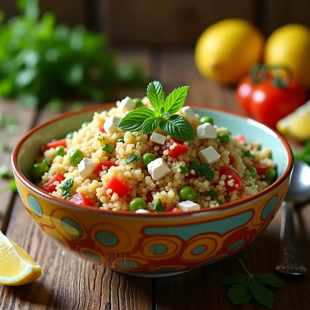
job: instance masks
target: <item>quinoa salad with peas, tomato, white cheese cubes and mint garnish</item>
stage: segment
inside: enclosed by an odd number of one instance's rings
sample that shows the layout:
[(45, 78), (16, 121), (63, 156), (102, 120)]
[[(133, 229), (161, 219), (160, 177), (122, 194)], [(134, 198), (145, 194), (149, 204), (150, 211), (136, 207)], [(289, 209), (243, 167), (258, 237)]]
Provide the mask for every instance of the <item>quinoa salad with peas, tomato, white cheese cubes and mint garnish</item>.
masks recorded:
[(164, 99), (151, 82), (42, 146), (33, 182), (75, 205), (136, 213), (186, 212), (255, 195), (277, 177), (271, 152), (184, 106), (188, 86)]

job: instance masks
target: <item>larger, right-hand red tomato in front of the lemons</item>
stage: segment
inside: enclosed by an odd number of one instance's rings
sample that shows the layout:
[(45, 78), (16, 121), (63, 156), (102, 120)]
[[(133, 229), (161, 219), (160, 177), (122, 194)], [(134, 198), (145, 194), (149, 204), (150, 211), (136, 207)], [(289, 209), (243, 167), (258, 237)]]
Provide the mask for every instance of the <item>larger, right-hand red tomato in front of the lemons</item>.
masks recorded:
[(270, 80), (255, 86), (249, 106), (256, 120), (268, 126), (276, 127), (277, 122), (292, 113), (307, 101), (304, 89), (295, 81), (280, 88)]

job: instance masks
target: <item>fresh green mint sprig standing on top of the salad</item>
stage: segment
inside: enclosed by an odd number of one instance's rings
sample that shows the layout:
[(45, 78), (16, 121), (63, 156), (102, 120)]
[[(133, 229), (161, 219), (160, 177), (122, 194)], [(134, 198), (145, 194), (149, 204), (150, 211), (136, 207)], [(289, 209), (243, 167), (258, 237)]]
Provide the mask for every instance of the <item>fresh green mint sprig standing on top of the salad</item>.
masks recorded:
[(118, 127), (128, 131), (140, 131), (146, 135), (158, 126), (167, 135), (176, 139), (193, 141), (195, 132), (188, 120), (180, 115), (172, 115), (182, 108), (189, 86), (182, 86), (172, 91), (164, 100), (162, 84), (153, 81), (148, 84), (147, 96), (154, 111), (149, 108), (137, 108), (126, 114)]

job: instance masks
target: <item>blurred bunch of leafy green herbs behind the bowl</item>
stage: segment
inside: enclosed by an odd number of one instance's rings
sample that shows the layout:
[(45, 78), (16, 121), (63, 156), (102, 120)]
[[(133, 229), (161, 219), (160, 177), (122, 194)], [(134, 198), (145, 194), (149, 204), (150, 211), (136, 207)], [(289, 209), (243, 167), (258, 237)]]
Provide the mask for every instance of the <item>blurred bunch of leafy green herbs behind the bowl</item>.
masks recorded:
[(39, 18), (39, 0), (17, 0), (20, 15), (3, 24), (0, 12), (0, 96), (35, 107), (65, 98), (110, 100), (119, 86), (148, 82), (139, 64), (115, 64), (106, 37), (83, 26)]

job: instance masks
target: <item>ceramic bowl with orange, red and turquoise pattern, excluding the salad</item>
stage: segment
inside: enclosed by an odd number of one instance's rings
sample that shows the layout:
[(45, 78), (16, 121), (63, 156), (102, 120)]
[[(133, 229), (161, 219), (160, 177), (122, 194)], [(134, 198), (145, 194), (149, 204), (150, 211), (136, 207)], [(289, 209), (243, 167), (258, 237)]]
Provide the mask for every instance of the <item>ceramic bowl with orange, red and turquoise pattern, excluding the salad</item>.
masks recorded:
[(217, 262), (247, 246), (276, 215), (286, 194), (293, 156), (285, 139), (252, 119), (199, 105), (218, 126), (270, 148), (278, 179), (260, 193), (212, 209), (188, 213), (135, 214), (74, 206), (32, 184), (30, 167), (42, 145), (78, 130), (98, 105), (66, 113), (35, 127), (16, 145), (12, 169), (18, 192), (34, 222), (58, 246), (80, 258), (121, 272), (164, 276)]

